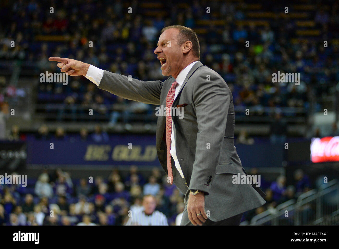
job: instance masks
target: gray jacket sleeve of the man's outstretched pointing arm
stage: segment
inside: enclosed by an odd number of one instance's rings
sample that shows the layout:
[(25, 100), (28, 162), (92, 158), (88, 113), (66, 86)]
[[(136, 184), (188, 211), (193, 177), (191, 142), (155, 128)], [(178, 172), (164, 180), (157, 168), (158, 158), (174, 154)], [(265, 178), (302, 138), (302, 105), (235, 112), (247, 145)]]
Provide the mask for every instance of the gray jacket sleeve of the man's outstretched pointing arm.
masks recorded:
[(104, 70), (98, 88), (124, 99), (159, 105), (162, 85), (160, 80), (142, 81)]

